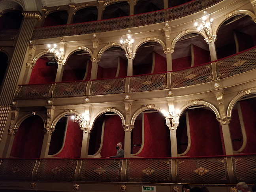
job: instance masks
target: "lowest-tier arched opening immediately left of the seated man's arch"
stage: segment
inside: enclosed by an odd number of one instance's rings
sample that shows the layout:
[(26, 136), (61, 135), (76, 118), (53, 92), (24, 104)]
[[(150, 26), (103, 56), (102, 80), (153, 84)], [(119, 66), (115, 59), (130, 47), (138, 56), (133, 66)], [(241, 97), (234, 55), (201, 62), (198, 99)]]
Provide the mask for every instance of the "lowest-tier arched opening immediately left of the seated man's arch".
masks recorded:
[(73, 122), (71, 114), (60, 118), (51, 136), (49, 156), (58, 158), (80, 158), (83, 131), (77, 122)]

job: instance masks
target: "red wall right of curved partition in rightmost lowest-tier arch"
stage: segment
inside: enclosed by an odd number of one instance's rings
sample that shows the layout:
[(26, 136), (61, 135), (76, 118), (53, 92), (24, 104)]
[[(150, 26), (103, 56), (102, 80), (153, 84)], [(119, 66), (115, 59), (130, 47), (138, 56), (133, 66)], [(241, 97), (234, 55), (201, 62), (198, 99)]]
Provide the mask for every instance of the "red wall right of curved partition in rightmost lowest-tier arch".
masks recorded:
[(245, 124), (245, 132), (247, 136), (247, 144), (245, 146), (245, 149), (242, 151), (243, 153), (256, 152), (256, 104), (252, 101), (253, 100), (243, 100), (240, 102), (241, 111), (243, 114), (243, 121)]

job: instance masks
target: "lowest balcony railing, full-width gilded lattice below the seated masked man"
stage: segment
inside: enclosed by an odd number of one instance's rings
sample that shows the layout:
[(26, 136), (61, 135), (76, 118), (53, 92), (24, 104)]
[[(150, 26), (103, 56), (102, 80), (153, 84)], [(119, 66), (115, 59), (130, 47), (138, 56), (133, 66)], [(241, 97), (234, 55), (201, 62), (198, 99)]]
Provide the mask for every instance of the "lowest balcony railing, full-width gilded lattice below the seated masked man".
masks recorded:
[(0, 180), (254, 183), (255, 158), (255, 154), (250, 154), (154, 159), (1, 159)]

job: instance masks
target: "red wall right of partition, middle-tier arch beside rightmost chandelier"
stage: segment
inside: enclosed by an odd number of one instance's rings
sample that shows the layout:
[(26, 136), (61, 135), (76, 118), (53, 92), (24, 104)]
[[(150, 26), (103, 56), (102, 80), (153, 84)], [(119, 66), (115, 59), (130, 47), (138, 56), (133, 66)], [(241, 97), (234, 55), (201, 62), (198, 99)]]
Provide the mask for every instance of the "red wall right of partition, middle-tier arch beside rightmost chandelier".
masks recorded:
[(204, 63), (208, 63), (211, 61), (210, 52), (193, 45), (194, 50), (194, 66), (201, 65)]

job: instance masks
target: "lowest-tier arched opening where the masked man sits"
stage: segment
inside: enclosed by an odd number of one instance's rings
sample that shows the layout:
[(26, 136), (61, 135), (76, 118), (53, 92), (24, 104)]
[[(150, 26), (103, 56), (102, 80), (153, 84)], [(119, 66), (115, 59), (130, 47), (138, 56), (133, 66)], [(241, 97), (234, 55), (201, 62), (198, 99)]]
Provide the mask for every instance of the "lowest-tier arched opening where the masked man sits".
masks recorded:
[(122, 119), (117, 113), (103, 113), (95, 120), (90, 132), (88, 155), (98, 158), (115, 156), (118, 142), (122, 143), (124, 149)]

